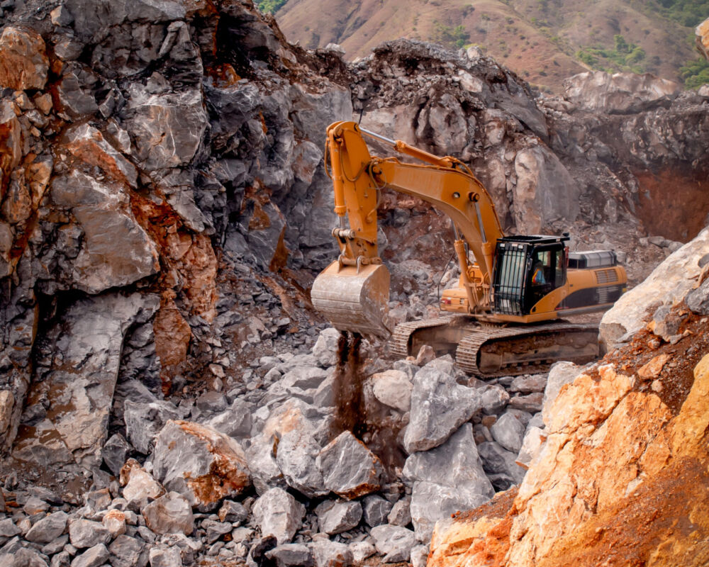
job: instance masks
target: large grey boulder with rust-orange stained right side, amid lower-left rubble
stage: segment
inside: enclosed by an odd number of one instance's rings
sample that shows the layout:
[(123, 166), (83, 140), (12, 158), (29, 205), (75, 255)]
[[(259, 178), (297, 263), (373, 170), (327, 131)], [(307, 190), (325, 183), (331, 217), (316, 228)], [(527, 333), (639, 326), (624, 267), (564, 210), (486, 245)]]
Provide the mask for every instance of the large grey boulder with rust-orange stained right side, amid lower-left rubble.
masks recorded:
[(168, 490), (210, 507), (250, 485), (246, 458), (230, 437), (211, 427), (169, 420), (155, 438), (153, 471)]

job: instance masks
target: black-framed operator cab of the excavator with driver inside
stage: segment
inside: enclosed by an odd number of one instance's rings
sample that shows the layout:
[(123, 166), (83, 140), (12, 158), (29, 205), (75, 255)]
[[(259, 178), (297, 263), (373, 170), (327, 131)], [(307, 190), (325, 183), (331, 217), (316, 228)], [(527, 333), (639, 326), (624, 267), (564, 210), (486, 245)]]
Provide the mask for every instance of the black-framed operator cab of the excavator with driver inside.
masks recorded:
[(501, 315), (530, 315), (534, 305), (566, 283), (566, 236), (498, 239), (493, 273), (494, 309)]

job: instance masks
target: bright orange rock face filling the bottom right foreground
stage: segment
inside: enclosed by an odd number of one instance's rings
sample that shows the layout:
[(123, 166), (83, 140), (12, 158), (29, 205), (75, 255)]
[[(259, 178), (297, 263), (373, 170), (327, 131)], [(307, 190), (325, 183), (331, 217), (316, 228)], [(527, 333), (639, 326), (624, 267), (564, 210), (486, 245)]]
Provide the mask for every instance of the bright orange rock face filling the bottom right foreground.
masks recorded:
[(559, 393), (519, 493), (438, 524), (429, 567), (709, 563), (709, 354), (676, 407), (667, 381), (590, 374)]

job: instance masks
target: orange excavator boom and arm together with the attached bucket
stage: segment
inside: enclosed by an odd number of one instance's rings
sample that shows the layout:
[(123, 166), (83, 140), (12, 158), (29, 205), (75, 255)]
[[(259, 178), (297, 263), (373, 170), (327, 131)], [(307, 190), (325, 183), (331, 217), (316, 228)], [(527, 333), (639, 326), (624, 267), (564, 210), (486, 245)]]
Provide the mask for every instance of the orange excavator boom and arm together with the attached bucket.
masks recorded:
[[(425, 164), (372, 157), (364, 136)], [(451, 218), (468, 305), (478, 312), (489, 310), (495, 245), (503, 232), (489, 193), (462, 162), (437, 157), (401, 140), (389, 140), (354, 122), (338, 122), (328, 128), (326, 166), (328, 162), (340, 221), (333, 229), (340, 257), (313, 283), (311, 298), (337, 329), (389, 335), (389, 271), (381, 263), (376, 242), (376, 209), (385, 188), (427, 201)], [(476, 259), (475, 266), (469, 262), (468, 249)], [(473, 274), (480, 277), (473, 278)]]

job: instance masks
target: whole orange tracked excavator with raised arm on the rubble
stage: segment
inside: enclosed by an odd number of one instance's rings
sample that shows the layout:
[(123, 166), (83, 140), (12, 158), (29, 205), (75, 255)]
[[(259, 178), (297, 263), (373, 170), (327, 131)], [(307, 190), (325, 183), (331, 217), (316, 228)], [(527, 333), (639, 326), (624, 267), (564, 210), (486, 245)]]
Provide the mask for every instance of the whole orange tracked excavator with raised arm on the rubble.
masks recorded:
[[(372, 156), (364, 137), (417, 162)], [(339, 220), (333, 237), (340, 255), (313, 282), (311, 299), (336, 329), (391, 336), (391, 352), (402, 358), (428, 344), (481, 377), (529, 374), (558, 360), (583, 364), (598, 357), (597, 325), (562, 317), (606, 310), (627, 290), (615, 252), (569, 252), (566, 232), (506, 236), (489, 193), (467, 165), (354, 122), (328, 127), (325, 166), (333, 179)], [(387, 316), (390, 276), (377, 249), (384, 189), (418, 197), (450, 217), (460, 268), (457, 288), (440, 296), (441, 317), (393, 329)]]

